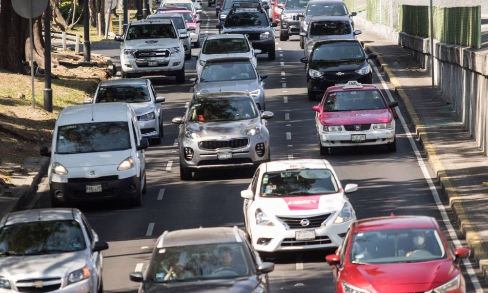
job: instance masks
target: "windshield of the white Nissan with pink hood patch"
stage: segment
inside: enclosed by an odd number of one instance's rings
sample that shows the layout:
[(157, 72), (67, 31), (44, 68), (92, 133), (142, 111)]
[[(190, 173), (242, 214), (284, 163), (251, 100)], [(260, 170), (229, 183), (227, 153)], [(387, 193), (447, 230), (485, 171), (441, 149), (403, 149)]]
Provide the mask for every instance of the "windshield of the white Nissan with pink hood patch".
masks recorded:
[(261, 196), (300, 196), (336, 193), (339, 189), (328, 169), (267, 172), (261, 181)]

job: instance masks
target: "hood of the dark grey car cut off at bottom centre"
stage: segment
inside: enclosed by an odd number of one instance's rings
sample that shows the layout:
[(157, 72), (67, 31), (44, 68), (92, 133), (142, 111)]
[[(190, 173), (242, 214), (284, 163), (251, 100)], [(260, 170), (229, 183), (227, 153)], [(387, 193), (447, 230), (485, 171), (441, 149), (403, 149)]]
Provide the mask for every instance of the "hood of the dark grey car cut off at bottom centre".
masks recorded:
[(149, 283), (142, 285), (144, 293), (249, 293), (258, 286), (256, 277), (234, 280), (199, 280), (180, 283)]

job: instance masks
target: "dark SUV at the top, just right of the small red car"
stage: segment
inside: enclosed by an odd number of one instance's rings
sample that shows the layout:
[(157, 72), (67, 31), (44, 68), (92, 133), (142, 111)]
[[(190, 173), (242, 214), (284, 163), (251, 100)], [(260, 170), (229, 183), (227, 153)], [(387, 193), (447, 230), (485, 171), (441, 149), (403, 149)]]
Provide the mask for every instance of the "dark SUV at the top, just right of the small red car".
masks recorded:
[(300, 33), (300, 18), (303, 18), (308, 0), (286, 0), (280, 16), (280, 41), (288, 41)]

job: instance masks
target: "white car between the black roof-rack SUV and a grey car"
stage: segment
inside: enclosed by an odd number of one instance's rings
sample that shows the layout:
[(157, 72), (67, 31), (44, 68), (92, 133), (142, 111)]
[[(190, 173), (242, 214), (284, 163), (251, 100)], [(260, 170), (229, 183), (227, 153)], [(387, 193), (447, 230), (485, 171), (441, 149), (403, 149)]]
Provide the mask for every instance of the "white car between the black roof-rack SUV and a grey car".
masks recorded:
[(194, 53), (192, 56), (198, 59), (197, 76), (200, 77), (203, 66), (209, 60), (247, 58), (254, 67), (257, 67), (257, 54), (261, 54), (261, 50), (254, 50), (246, 36), (242, 34), (224, 34), (206, 37), (203, 40), (200, 53)]

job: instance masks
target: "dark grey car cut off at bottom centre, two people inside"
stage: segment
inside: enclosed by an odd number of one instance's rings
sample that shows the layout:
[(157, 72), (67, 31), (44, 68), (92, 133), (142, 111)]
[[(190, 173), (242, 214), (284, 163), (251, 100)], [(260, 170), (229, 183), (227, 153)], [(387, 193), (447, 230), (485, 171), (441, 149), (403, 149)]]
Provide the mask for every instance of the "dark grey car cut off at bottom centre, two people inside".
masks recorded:
[(237, 227), (165, 231), (153, 250), (149, 266), (130, 274), (141, 282), (139, 293), (268, 293), (268, 272)]

